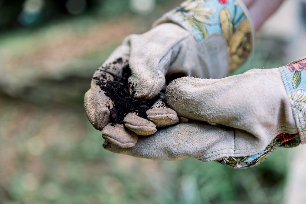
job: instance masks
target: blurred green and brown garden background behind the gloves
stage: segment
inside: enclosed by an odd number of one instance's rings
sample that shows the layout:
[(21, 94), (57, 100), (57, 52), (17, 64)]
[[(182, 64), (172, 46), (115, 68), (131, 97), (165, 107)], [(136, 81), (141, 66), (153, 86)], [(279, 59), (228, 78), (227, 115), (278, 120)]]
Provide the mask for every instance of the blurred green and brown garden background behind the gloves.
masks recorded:
[[(180, 2), (0, 0), (0, 203), (284, 203), (292, 150), (247, 170), (150, 161), (107, 152), (88, 122), (95, 69)], [(233, 74), (286, 64), (287, 44), (259, 35)]]

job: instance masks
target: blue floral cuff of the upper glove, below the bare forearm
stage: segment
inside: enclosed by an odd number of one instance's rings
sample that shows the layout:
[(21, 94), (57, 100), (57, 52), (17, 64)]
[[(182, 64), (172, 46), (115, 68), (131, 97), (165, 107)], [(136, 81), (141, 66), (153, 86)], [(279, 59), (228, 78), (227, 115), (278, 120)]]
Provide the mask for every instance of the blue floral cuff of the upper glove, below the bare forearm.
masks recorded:
[(155, 21), (153, 27), (169, 22), (188, 30), (198, 43), (208, 35), (222, 33), (230, 54), (230, 70), (254, 52), (255, 29), (241, 0), (187, 0)]

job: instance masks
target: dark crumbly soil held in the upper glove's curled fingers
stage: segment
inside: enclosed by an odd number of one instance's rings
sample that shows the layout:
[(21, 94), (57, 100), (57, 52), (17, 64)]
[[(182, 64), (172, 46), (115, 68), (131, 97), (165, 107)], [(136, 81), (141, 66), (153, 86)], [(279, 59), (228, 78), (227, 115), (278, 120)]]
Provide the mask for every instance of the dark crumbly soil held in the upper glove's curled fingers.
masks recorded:
[[(122, 59), (118, 59), (117, 61), (113, 62), (113, 64), (116, 63), (122, 64)], [(160, 98), (160, 96), (157, 96), (151, 100), (134, 98), (129, 93), (129, 85), (131, 85), (133, 89), (133, 87), (136, 87), (137, 84), (129, 84), (128, 82), (128, 78), (131, 76), (129, 65), (123, 68), (122, 77), (108, 72), (107, 69), (110, 69), (110, 67), (105, 67), (104, 70), (101, 71), (101, 78), (94, 77), (93, 79), (96, 80), (96, 84), (100, 86), (105, 95), (108, 96), (113, 102), (113, 108), (110, 109), (110, 122), (123, 124), (123, 119), (130, 112), (136, 112), (139, 117), (147, 118), (147, 110), (151, 108), (151, 106), (158, 98)], [(106, 78), (106, 73), (111, 74), (114, 77), (114, 80), (103, 80)]]

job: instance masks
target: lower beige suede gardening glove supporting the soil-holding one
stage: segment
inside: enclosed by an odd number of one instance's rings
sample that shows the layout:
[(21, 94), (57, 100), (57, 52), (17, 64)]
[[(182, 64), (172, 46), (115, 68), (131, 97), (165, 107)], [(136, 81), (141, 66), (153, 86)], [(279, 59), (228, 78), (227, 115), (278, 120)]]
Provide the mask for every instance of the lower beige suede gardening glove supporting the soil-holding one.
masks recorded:
[[(252, 69), (224, 79), (183, 77), (171, 82), (166, 102), (179, 116), (201, 122), (178, 124), (141, 138), (115, 153), (179, 160), (186, 157), (247, 168), (277, 147), (305, 143), (306, 57), (277, 69)], [(215, 125), (212, 125), (215, 124)]]

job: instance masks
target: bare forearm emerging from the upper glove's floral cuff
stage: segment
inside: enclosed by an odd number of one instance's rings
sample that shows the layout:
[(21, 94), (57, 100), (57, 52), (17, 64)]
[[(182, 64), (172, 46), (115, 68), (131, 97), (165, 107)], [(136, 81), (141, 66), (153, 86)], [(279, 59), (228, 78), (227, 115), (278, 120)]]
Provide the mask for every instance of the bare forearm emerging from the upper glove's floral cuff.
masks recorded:
[(278, 9), (284, 0), (243, 0), (248, 7), (256, 30)]

